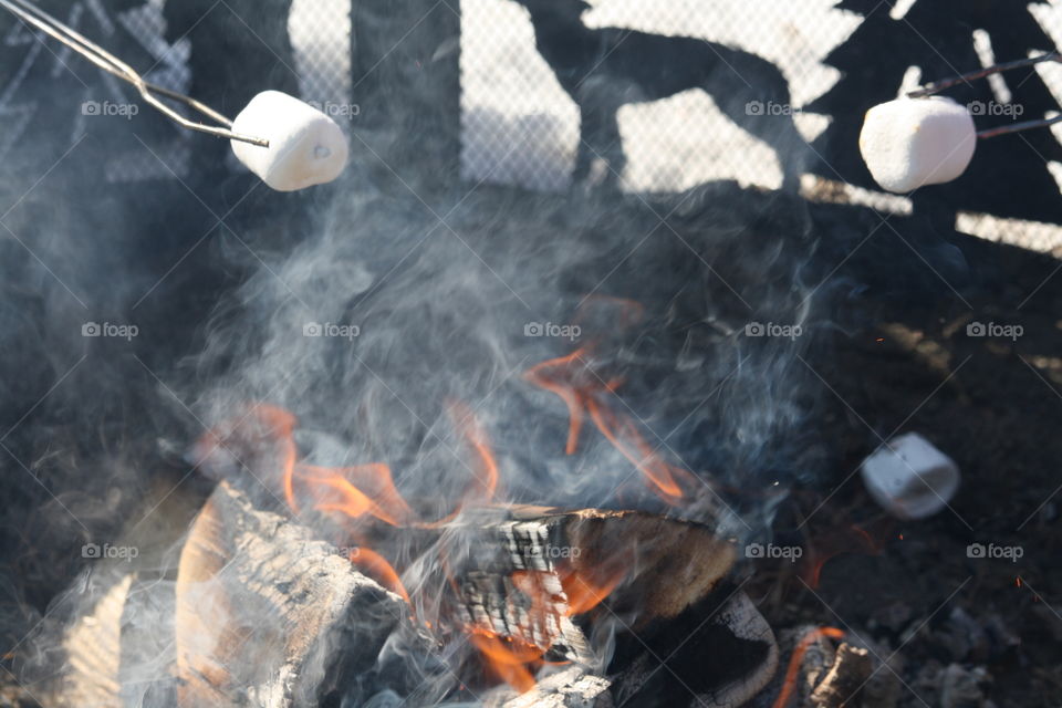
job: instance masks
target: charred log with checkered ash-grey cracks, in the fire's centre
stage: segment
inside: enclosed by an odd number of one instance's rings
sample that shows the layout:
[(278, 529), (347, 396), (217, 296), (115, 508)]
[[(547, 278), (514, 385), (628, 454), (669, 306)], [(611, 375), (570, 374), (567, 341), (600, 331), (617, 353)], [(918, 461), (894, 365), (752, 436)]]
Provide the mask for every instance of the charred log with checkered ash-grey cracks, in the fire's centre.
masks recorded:
[[(458, 572), (456, 613), (470, 627), (594, 659), (571, 617), (606, 596), (641, 627), (678, 615), (733, 564), (733, 544), (707, 527), (637, 511), (513, 507), (483, 527)], [(482, 534), (481, 534), (482, 535)], [(491, 540), (492, 537), (492, 540)]]

